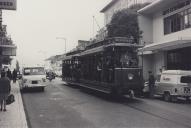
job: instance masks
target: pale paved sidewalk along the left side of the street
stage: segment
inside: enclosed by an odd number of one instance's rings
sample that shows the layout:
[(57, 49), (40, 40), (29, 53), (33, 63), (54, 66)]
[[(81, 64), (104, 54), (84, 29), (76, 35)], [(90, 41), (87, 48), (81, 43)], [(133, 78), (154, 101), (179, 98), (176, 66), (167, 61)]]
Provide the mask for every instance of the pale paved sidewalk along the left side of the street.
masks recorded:
[(18, 82), (11, 84), (11, 93), (15, 102), (7, 105), (6, 112), (0, 111), (0, 128), (28, 128)]

